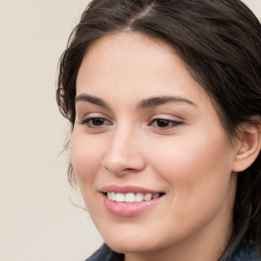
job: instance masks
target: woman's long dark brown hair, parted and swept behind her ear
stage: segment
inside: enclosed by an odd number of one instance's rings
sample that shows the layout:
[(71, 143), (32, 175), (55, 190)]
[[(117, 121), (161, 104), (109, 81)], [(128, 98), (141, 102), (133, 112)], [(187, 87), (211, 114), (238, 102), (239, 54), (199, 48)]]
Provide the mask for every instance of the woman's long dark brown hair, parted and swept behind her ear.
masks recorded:
[[(139, 32), (173, 46), (211, 97), (230, 141), (240, 123), (261, 115), (261, 26), (239, 0), (94, 0), (60, 59), (57, 103), (73, 128), (76, 78), (88, 47), (118, 32)], [(233, 230), (227, 249), (261, 249), (261, 155), (238, 175)], [(76, 182), (72, 165), (68, 179)], [(227, 250), (226, 249), (226, 250)], [(228, 251), (229, 252), (229, 251)], [(225, 254), (221, 258), (225, 260)]]

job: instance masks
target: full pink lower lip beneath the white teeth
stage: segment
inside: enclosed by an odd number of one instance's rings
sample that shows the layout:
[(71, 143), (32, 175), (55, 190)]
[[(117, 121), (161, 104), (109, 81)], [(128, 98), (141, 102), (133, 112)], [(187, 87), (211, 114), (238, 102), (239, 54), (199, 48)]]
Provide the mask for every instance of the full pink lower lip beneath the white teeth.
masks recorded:
[(124, 203), (110, 200), (105, 194), (102, 194), (103, 203), (106, 209), (115, 216), (133, 217), (142, 214), (149, 208), (153, 207), (162, 198), (144, 200), (141, 202)]

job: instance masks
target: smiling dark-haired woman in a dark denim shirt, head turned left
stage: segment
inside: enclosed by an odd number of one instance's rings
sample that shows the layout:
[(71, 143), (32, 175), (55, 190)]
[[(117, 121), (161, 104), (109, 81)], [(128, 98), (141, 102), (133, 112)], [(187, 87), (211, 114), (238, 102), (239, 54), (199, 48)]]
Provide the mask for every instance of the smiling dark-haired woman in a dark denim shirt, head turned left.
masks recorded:
[(60, 61), (87, 260), (260, 260), (261, 27), (239, 0), (94, 0)]

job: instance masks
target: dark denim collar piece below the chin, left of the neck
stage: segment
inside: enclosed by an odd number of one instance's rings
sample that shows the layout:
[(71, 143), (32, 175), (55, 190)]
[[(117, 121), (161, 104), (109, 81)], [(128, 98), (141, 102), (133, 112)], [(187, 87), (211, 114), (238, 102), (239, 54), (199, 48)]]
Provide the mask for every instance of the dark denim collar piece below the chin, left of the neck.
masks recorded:
[(108, 245), (103, 244), (85, 261), (123, 261), (124, 255), (114, 252)]

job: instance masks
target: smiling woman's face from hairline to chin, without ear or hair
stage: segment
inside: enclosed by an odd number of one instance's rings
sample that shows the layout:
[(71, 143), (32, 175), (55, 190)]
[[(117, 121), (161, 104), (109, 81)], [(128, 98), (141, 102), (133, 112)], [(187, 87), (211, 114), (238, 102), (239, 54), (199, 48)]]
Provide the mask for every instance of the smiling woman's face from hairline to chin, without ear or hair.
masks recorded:
[(72, 165), (111, 248), (222, 244), (235, 151), (210, 98), (170, 46), (138, 33), (99, 39), (83, 59), (75, 103)]

